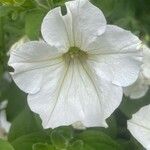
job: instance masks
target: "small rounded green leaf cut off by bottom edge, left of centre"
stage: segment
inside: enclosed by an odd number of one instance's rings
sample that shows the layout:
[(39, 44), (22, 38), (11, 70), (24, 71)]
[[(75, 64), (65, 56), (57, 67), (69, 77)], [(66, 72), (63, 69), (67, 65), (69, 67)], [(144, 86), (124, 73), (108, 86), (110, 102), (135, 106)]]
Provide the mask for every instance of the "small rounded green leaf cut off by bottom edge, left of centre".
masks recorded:
[(33, 145), (33, 150), (55, 150), (52, 145), (37, 143)]

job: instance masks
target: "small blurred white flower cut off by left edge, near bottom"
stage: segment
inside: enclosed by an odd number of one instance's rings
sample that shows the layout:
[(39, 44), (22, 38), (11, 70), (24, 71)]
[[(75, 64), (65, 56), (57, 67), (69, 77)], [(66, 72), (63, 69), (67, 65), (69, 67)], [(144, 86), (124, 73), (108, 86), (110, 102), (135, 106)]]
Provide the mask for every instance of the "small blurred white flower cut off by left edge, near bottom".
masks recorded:
[(6, 138), (7, 133), (10, 129), (10, 122), (7, 121), (5, 108), (7, 106), (7, 101), (0, 103), (0, 138)]

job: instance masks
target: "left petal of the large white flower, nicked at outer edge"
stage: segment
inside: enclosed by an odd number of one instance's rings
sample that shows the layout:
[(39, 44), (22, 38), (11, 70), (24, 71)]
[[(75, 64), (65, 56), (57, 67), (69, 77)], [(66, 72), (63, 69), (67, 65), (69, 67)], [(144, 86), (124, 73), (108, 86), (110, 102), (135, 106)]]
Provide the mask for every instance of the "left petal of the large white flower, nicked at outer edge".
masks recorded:
[(11, 74), (15, 83), (26, 93), (38, 92), (45, 70), (62, 63), (60, 55), (56, 48), (44, 42), (27, 42), (14, 49), (8, 65), (14, 68)]

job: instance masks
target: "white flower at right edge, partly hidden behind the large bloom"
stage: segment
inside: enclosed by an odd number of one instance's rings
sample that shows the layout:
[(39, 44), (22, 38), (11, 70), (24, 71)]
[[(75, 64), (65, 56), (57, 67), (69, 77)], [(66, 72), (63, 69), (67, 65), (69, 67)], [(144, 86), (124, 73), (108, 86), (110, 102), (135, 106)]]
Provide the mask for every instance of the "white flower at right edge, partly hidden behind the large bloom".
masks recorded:
[(124, 88), (124, 94), (131, 99), (138, 99), (143, 97), (150, 86), (150, 49), (147, 46), (143, 46), (143, 64), (141, 73), (137, 81)]

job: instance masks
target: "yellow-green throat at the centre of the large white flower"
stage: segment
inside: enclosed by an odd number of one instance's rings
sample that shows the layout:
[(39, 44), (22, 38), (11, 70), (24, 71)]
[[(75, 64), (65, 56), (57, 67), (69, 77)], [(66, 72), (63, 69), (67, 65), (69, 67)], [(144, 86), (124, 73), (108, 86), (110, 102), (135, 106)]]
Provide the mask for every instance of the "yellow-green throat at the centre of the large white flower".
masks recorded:
[(77, 57), (86, 57), (87, 53), (82, 51), (78, 47), (70, 47), (68, 52), (65, 53), (64, 56), (73, 59), (73, 58), (77, 58)]

